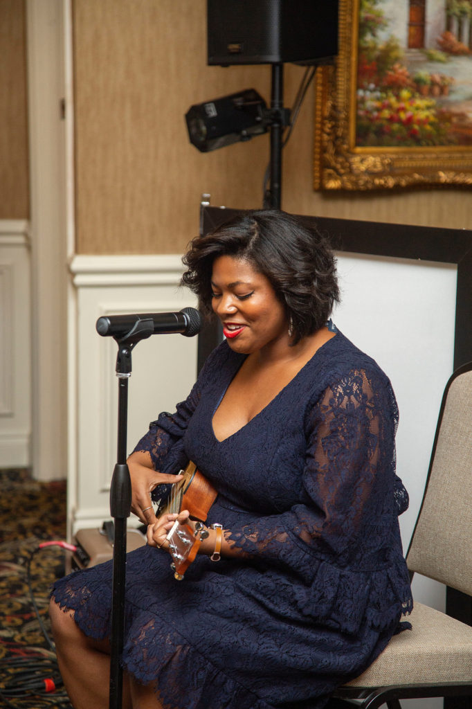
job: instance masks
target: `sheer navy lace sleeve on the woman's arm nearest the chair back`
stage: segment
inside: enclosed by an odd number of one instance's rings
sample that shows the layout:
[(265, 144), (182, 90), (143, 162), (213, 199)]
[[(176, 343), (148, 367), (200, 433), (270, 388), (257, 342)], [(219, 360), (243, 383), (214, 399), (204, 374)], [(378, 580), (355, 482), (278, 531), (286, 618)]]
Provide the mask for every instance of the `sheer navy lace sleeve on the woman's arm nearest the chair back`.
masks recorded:
[(393, 391), (376, 371), (335, 378), (306, 415), (303, 503), (232, 529), (230, 538), (292, 568), (307, 553), (352, 562), (365, 540), (375, 545), (382, 525), (391, 526), (397, 421)]

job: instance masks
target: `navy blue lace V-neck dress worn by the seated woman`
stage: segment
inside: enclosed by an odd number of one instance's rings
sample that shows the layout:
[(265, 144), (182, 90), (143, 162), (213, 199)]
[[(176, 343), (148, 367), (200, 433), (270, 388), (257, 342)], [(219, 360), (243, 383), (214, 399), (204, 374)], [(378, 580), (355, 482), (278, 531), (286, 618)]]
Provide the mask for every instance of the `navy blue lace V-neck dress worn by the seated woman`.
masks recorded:
[[(249, 557), (199, 555), (175, 581), (164, 550), (128, 554), (123, 665), (169, 708), (321, 708), (408, 625), (398, 410), (386, 375), (337, 333), (220, 442), (213, 413), (244, 358), (223, 342), (135, 450), (164, 472), (196, 462), (218, 489), (208, 523)], [(86, 635), (110, 634), (111, 563), (53, 595)]]

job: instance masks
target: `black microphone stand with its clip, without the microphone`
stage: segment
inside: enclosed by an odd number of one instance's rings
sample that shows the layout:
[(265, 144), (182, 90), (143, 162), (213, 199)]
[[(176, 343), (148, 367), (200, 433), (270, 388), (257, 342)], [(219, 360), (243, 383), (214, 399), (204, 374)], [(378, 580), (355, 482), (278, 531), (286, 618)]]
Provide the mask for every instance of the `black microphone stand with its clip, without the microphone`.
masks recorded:
[(110, 709), (121, 709), (123, 704), (123, 635), (125, 624), (126, 579), (126, 520), (131, 512), (131, 480), (126, 462), (126, 437), (128, 433), (128, 379), (131, 376), (131, 350), (140, 340), (153, 333), (151, 320), (140, 320), (118, 342), (116, 376), (118, 376), (118, 445), (117, 460), (110, 489), (110, 512), (114, 519), (113, 586), (111, 603), (111, 659), (110, 659)]

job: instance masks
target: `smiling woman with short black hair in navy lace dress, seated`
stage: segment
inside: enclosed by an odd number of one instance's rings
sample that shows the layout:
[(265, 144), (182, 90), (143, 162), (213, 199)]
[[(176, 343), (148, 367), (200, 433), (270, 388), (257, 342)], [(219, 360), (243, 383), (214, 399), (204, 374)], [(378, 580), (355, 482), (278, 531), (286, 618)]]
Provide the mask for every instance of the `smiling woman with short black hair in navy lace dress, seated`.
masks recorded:
[[(321, 708), (412, 607), (395, 397), (330, 322), (335, 259), (296, 218), (245, 213), (193, 240), (184, 263), (225, 341), (128, 460), (132, 508), (149, 526), (147, 546), (128, 554), (123, 706)], [(189, 459), (218, 497), (178, 583), (167, 553), (176, 515), (156, 520), (150, 491)], [(72, 703), (105, 708), (111, 564), (57, 581), (53, 599)]]

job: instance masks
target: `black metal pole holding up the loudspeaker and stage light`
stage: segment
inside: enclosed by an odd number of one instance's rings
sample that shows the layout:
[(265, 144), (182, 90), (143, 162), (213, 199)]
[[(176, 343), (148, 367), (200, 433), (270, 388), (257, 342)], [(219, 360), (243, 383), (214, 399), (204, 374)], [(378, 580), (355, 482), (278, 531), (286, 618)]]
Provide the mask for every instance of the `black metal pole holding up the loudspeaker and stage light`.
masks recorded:
[(282, 191), (282, 133), (283, 133), (283, 64), (272, 65), (271, 110), (273, 120), (270, 127), (271, 170), (270, 206), (281, 208)]

